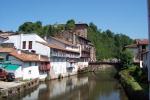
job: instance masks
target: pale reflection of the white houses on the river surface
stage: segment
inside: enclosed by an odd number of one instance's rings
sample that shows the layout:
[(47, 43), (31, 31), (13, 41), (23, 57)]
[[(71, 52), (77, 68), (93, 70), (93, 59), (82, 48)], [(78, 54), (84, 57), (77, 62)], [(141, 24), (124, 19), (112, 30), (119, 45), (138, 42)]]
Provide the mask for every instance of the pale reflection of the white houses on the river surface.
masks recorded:
[(75, 94), (78, 94), (78, 91), (74, 91), (75, 88), (86, 84), (88, 84), (88, 77), (78, 78), (77, 76), (71, 76), (63, 80), (48, 81), (41, 83), (34, 92), (25, 96), (23, 100), (43, 100), (43, 97), (45, 100), (48, 98), (55, 99), (61, 96), (68, 96), (70, 91), (77, 92)]

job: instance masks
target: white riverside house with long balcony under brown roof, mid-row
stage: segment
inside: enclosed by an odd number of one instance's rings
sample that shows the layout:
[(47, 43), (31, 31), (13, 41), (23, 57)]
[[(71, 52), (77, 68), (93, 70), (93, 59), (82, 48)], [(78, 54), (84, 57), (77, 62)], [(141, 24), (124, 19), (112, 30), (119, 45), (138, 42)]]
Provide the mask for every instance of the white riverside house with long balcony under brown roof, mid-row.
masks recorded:
[(50, 48), (50, 78), (77, 74), (80, 52), (67, 50), (59, 45), (39, 42)]

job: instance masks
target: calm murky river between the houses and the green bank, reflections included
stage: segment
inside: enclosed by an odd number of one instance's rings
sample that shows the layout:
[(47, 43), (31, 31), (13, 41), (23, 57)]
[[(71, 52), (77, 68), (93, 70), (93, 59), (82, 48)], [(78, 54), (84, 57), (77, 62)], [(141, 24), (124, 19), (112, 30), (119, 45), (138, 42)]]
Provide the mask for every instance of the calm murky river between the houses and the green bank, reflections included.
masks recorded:
[(62, 80), (41, 83), (38, 87), (11, 97), (11, 100), (128, 100), (114, 78), (116, 70), (75, 75)]

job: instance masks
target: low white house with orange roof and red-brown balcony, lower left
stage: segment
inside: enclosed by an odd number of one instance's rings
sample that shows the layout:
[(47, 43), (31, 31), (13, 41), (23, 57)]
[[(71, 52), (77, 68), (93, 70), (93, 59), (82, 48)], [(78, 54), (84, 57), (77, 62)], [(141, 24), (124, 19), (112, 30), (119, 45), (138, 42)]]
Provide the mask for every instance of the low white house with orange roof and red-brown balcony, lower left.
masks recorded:
[(50, 61), (47, 56), (21, 50), (17, 51), (14, 48), (0, 48), (0, 54), (11, 64), (21, 66), (21, 72), (18, 73), (20, 73), (20, 77), (22, 76), (23, 80), (45, 78), (50, 71)]

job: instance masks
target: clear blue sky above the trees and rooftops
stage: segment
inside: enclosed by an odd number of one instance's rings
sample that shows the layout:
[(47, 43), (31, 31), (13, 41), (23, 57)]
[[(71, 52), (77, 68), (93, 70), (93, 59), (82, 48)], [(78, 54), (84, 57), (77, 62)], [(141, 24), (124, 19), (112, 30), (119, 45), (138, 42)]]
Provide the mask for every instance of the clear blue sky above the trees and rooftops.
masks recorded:
[(47, 25), (69, 19), (133, 39), (148, 38), (147, 0), (0, 0), (0, 30), (17, 31), (27, 21)]

